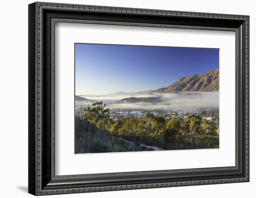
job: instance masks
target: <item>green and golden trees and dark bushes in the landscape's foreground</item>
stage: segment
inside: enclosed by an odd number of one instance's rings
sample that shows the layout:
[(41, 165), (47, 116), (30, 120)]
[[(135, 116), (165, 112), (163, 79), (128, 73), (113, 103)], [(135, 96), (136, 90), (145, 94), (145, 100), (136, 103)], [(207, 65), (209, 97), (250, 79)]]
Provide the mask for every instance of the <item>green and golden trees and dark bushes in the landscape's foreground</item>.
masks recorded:
[(112, 120), (109, 109), (101, 102), (84, 109), (75, 119), (75, 152), (129, 152), (218, 148), (218, 119), (202, 120), (191, 113), (186, 119), (164, 119), (146, 113), (143, 119), (128, 117)]

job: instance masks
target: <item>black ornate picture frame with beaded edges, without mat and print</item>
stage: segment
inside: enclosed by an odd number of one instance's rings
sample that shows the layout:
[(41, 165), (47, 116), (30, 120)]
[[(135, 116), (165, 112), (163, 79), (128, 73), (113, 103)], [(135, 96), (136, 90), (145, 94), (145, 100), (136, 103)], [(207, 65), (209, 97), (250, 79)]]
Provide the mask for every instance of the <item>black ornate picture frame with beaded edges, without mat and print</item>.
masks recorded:
[[(30, 4), (28, 16), (29, 193), (47, 195), (249, 182), (249, 16), (44, 2)], [(235, 31), (236, 166), (55, 176), (55, 22)]]

